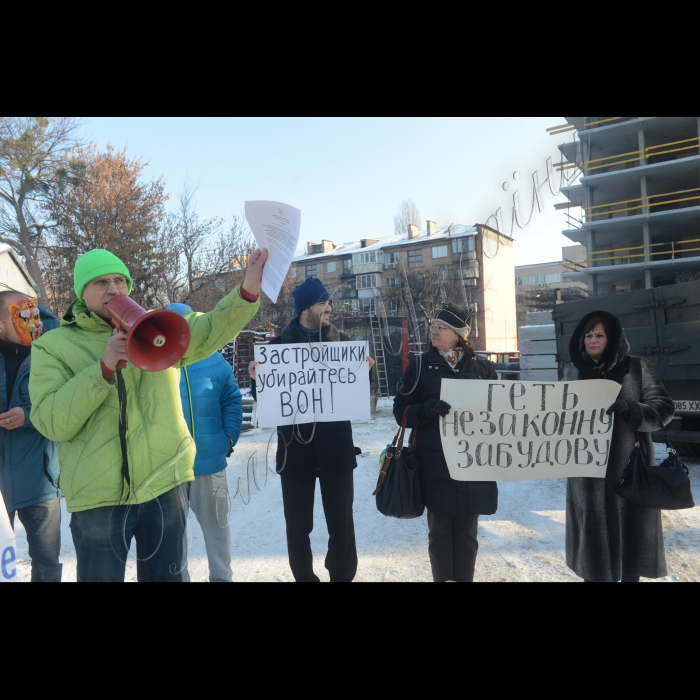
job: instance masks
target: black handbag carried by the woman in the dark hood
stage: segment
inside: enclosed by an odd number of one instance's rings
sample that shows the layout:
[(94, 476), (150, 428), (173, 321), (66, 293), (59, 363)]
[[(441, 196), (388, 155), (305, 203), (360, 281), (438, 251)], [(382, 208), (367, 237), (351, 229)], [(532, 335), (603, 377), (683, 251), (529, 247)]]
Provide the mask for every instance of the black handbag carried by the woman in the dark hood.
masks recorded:
[(615, 493), (645, 508), (659, 510), (695, 508), (688, 467), (681, 462), (678, 453), (673, 449), (659, 414), (648, 404), (646, 407), (651, 410), (661, 425), (666, 438), (666, 447), (668, 447), (668, 457), (659, 465), (649, 466), (646, 450), (642, 446), (642, 438), (637, 433), (637, 443), (622, 478), (615, 487)]

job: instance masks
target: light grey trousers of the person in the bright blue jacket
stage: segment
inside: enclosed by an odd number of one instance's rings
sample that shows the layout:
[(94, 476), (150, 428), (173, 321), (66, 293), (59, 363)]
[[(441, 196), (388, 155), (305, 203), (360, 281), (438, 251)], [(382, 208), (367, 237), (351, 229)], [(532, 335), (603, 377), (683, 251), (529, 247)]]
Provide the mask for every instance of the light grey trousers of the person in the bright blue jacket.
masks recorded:
[[(209, 560), (209, 581), (231, 583), (231, 530), (228, 527), (229, 493), (226, 470), (217, 474), (196, 476), (187, 484), (189, 502), (204, 535), (204, 546)], [(183, 577), (190, 580), (185, 566)]]

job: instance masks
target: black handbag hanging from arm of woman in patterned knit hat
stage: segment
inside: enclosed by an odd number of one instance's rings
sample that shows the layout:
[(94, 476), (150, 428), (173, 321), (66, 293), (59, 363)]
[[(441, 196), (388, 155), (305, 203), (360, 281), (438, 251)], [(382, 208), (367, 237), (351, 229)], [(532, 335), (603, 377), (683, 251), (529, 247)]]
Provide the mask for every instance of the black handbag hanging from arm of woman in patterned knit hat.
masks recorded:
[(411, 434), (407, 447), (403, 444), (408, 411), (408, 408), (404, 411), (401, 427), (387, 452), (377, 489), (372, 494), (377, 498), (377, 510), (382, 515), (400, 520), (420, 518), (425, 512), (415, 434)]

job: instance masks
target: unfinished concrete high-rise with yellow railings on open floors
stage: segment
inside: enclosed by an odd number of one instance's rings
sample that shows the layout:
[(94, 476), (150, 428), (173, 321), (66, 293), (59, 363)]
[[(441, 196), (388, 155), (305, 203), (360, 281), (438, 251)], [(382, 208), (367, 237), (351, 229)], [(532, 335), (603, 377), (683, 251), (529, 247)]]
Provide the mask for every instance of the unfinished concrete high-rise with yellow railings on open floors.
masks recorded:
[(558, 208), (581, 208), (564, 235), (587, 249), (566, 265), (566, 278), (592, 294), (697, 279), (700, 117), (565, 119), (555, 133), (577, 132), (560, 150), (582, 177)]

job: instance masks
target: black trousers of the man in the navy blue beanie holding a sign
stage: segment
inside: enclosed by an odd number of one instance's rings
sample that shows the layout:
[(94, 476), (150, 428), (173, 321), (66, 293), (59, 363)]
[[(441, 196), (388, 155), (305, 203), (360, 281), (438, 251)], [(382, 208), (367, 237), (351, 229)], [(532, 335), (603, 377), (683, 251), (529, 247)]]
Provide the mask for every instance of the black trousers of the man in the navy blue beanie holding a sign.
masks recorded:
[[(318, 583), (309, 539), (314, 529), (316, 479), (297, 479), (282, 474), (281, 480), (292, 574), (297, 583)], [(319, 481), (329, 535), (326, 569), (332, 583), (349, 583), (357, 573), (355, 523), (352, 517), (355, 493), (353, 472), (322, 476)]]

